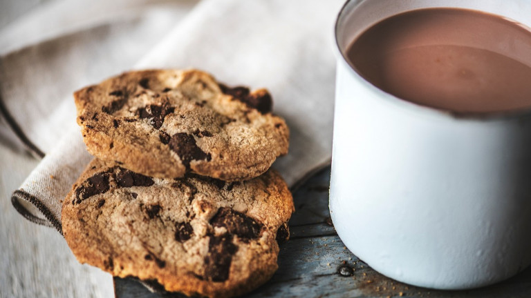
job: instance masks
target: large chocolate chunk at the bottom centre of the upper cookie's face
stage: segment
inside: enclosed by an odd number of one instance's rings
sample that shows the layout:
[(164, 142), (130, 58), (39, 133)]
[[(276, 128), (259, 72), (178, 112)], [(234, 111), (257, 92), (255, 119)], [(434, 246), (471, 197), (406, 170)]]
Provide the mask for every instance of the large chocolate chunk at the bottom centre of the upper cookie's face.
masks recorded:
[(169, 148), (174, 150), (187, 169), (190, 168), (190, 161), (192, 160), (206, 160), (210, 161), (212, 157), (210, 153), (205, 153), (196, 144), (196, 139), (193, 135), (188, 135), (185, 132), (178, 132), (169, 140)]

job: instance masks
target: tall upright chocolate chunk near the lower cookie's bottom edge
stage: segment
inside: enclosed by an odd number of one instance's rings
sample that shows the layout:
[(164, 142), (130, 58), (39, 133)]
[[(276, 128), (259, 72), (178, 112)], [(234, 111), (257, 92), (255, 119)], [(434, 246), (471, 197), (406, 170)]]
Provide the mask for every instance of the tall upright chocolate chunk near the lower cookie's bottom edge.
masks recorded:
[(205, 257), (205, 279), (226, 281), (229, 278), (232, 255), (236, 251), (238, 246), (232, 243), (230, 235), (210, 236), (208, 254)]

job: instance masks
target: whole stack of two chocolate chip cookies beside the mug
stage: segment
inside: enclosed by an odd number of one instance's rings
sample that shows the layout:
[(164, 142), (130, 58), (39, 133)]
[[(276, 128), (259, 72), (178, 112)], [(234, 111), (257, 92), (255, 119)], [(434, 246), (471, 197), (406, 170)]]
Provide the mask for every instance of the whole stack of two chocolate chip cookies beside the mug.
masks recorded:
[(127, 72), (75, 92), (96, 158), (63, 203), (78, 261), (186, 295), (230, 297), (277, 270), (294, 210), (267, 90), (198, 70)]

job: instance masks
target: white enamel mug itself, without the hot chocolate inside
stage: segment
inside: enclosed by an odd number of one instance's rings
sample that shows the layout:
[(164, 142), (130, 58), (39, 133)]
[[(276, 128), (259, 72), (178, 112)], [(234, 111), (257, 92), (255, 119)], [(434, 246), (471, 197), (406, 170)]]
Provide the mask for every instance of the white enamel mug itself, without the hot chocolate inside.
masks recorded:
[(348, 249), (378, 272), (475, 288), (531, 264), (531, 112), (458, 117), (419, 106), (363, 79), (345, 54), (374, 23), (431, 7), (531, 25), (525, 0), (348, 1), (336, 26), (330, 213)]

